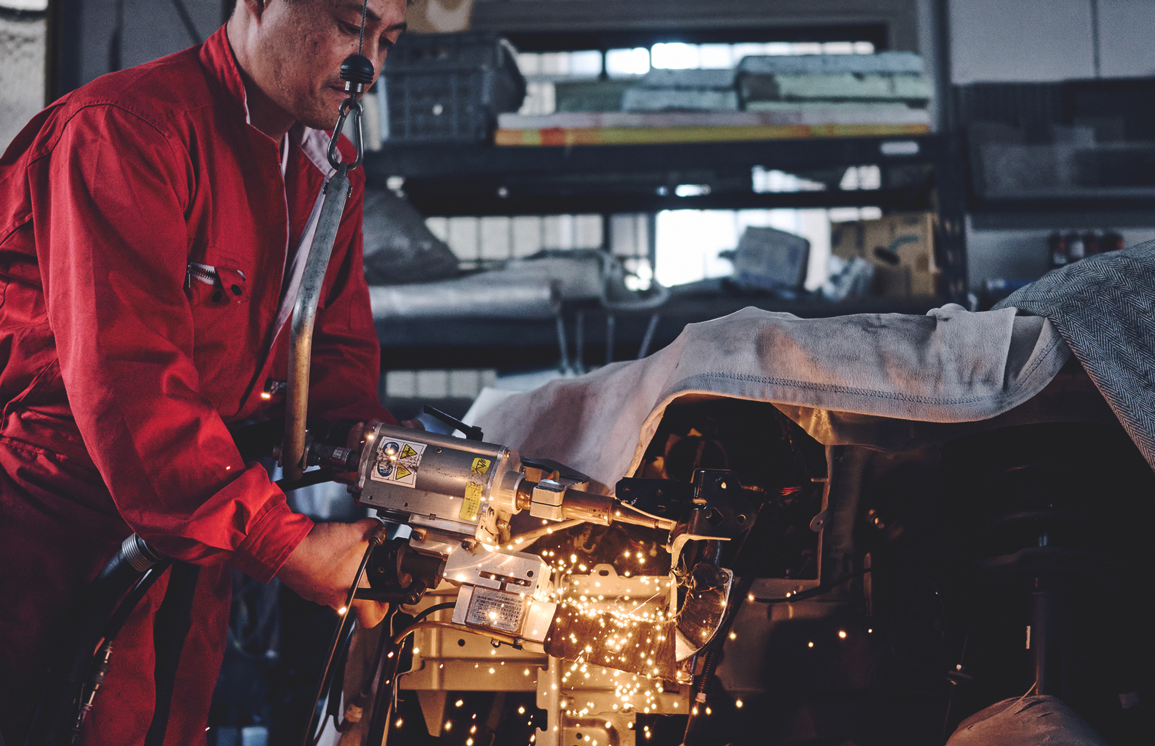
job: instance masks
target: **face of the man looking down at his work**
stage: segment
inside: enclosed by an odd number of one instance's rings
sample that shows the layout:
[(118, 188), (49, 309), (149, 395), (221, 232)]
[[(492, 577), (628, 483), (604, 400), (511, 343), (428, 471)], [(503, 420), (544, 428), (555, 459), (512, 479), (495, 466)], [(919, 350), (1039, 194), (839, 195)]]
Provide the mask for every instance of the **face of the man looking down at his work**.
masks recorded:
[[(360, 0), (264, 0), (251, 74), (297, 121), (333, 128), (341, 101), (349, 97), (341, 62), (357, 53), (360, 17)], [(368, 0), (362, 54), (375, 74), (404, 21), (405, 0)]]

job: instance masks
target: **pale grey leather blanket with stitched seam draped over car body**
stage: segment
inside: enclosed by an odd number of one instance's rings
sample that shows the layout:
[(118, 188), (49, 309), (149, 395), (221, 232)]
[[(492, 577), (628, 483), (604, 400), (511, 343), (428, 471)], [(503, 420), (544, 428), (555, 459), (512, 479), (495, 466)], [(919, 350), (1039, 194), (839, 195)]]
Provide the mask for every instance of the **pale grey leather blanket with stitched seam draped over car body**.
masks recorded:
[(687, 325), (644, 360), (501, 400), (489, 392), (470, 415), (486, 440), (567, 464), (609, 491), (679, 397), (770, 401), (827, 445), (901, 449), (925, 440), (919, 423), (982, 421), (1027, 402), (1068, 357), (1050, 321), (1014, 308), (818, 319), (746, 308)]

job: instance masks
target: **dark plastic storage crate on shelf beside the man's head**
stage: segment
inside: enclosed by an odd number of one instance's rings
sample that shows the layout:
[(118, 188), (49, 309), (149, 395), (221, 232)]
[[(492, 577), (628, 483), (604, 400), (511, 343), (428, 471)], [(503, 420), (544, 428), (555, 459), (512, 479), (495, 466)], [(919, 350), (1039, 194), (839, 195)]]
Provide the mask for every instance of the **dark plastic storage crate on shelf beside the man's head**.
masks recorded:
[(402, 35), (378, 81), (382, 140), (489, 141), (498, 114), (526, 98), (516, 53), (494, 33)]

